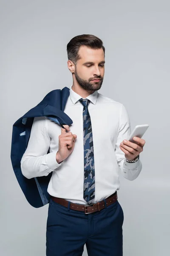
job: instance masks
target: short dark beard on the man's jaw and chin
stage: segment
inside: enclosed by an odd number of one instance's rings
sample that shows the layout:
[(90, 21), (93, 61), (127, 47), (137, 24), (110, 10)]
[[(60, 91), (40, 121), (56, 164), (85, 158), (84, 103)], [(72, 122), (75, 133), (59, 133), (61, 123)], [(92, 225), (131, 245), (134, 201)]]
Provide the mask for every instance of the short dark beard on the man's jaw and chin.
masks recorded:
[(89, 81), (84, 80), (78, 76), (76, 68), (75, 68), (74, 74), (77, 79), (77, 82), (84, 90), (89, 90), (89, 91), (99, 90), (102, 86), (102, 83), (103, 83), (102, 77), (95, 78), (95, 79), (101, 79), (99, 80), (99, 82), (91, 81), (91, 79), (89, 79)]

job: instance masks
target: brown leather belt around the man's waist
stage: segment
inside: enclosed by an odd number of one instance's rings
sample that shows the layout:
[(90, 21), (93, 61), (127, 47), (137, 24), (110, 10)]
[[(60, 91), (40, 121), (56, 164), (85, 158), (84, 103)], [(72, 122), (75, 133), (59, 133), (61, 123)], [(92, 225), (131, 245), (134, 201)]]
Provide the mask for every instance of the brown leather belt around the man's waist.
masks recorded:
[[(57, 204), (61, 204), (62, 206), (68, 207), (68, 201), (63, 198), (57, 198), (57, 197), (51, 196), (51, 199), (55, 201)], [(117, 191), (114, 194), (110, 195), (108, 198), (105, 198), (105, 200), (106, 200), (107, 207), (115, 203), (117, 201)], [(105, 208), (104, 200), (101, 202), (97, 202), (96, 204), (89, 204), (89, 205), (70, 203), (70, 209), (73, 209), (76, 211), (82, 211), (82, 212), (85, 212), (85, 214), (97, 212), (104, 208)]]

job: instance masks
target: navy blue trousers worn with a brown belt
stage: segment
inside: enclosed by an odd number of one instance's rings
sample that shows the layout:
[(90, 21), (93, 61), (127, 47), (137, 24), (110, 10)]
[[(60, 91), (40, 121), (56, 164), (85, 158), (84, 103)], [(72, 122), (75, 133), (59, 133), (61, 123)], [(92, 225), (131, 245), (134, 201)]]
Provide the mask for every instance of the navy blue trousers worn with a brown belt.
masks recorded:
[(124, 214), (118, 201), (101, 211), (85, 214), (49, 201), (46, 256), (122, 256)]

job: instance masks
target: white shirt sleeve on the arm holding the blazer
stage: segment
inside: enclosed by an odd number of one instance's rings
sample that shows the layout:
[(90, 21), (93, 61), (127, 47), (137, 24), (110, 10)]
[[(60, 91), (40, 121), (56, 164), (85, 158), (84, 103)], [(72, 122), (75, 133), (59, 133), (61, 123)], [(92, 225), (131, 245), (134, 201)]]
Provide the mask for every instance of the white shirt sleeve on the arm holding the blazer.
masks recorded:
[(57, 151), (47, 154), (51, 138), (46, 122), (45, 116), (34, 117), (28, 146), (20, 162), (21, 172), (28, 179), (47, 176), (63, 163), (57, 163)]

